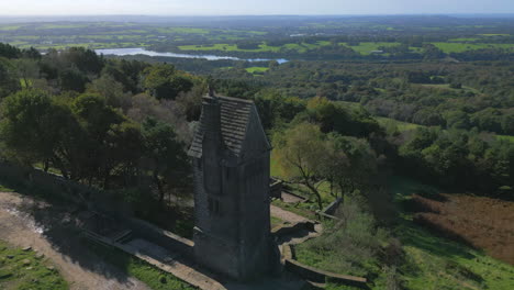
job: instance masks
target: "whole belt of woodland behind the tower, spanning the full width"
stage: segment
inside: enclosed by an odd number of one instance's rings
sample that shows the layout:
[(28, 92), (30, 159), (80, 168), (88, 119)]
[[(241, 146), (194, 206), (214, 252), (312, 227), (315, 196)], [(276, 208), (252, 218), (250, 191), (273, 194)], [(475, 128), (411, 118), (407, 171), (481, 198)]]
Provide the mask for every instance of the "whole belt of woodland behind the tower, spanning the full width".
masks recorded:
[[(471, 74), (466, 66), (433, 70), (431, 65), (292, 62), (255, 81), (230, 79), (234, 71), (211, 79), (169, 64), (105, 59), (85, 48), (41, 55), (1, 45), (0, 56), (2, 158), (116, 190), (139, 208), (192, 192), (186, 150), (208, 85), (256, 102), (273, 158), (319, 205), (314, 185), (320, 180), (329, 182), (334, 196), (357, 190), (380, 205), (387, 199), (383, 177), (392, 171), (455, 190), (514, 197), (513, 143), (482, 132), (512, 132), (506, 118), (512, 116), (512, 80), (504, 78), (510, 66), (498, 65), (477, 80), (489, 66), (477, 65)], [(455, 88), (418, 85), (427, 79)], [(471, 81), (479, 81), (481, 91), (462, 89)], [(392, 104), (373, 109), (378, 101)], [(382, 115), (404, 113), (407, 121), (438, 126), (383, 127), (370, 112), (384, 108), (393, 109)], [(445, 123), (431, 123), (438, 120), (431, 114)]]

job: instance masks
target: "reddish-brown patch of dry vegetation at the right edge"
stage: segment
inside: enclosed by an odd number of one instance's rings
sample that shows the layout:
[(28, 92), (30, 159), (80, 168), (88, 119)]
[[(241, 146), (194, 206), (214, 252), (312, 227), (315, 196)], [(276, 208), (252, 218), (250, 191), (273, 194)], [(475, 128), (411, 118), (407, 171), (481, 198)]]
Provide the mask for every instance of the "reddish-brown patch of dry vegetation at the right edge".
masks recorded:
[(414, 196), (414, 221), (514, 265), (514, 202), (465, 194)]

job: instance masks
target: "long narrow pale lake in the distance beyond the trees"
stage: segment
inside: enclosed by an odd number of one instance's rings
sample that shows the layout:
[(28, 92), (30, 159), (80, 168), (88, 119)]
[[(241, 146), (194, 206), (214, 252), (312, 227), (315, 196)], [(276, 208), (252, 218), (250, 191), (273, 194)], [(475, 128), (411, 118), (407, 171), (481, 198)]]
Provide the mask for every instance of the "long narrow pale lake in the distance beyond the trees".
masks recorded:
[(153, 51), (146, 51), (144, 48), (109, 48), (109, 49), (94, 49), (97, 54), (103, 55), (148, 55), (148, 56), (167, 56), (167, 57), (181, 57), (181, 58), (204, 58), (208, 60), (219, 60), (219, 59), (232, 59), (232, 60), (247, 60), (247, 62), (268, 62), (268, 60), (277, 60), (279, 64), (287, 63), (288, 59), (279, 58), (279, 59), (267, 59), (267, 58), (238, 58), (232, 56), (217, 56), (217, 55), (191, 55), (191, 54), (176, 54), (176, 53), (158, 53)]

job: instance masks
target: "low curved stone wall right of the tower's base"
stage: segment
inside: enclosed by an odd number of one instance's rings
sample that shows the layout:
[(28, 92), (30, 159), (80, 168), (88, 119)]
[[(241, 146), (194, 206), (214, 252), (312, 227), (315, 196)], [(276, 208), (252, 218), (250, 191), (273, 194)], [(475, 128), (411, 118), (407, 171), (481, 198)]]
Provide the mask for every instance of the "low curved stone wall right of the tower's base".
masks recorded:
[(331, 281), (335, 283), (359, 287), (362, 289), (368, 288), (367, 287), (368, 280), (366, 278), (338, 275), (334, 272), (320, 270), (320, 269), (303, 265), (291, 258), (286, 258), (286, 269), (299, 275), (300, 277), (309, 281), (313, 281), (317, 283), (325, 283), (326, 281)]

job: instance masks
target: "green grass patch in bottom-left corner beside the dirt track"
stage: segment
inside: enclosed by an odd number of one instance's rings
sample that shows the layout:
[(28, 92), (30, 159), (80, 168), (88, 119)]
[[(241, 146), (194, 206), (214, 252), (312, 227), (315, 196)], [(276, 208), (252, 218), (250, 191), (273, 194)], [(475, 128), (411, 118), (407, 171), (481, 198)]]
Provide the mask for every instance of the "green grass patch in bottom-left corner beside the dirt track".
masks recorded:
[(69, 287), (44, 257), (0, 241), (0, 289), (65, 290)]

